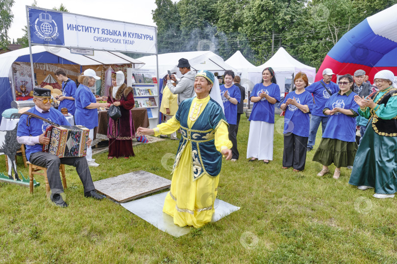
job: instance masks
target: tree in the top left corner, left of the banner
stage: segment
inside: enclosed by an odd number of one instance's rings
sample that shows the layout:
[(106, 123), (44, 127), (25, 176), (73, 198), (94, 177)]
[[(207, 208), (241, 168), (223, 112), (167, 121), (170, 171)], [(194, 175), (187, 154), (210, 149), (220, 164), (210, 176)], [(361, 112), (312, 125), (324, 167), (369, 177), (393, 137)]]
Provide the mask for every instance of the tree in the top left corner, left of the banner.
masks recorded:
[(8, 29), (11, 26), (14, 15), (11, 7), (14, 0), (0, 0), (0, 48), (7, 49), (10, 41), (8, 39)]

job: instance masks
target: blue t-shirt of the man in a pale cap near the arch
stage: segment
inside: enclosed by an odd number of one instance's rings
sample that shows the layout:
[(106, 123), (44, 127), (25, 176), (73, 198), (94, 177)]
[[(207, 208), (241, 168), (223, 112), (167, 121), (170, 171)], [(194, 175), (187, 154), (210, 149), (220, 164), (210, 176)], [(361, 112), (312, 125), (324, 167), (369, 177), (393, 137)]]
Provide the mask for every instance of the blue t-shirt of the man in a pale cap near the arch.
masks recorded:
[(336, 92), (339, 91), (339, 87), (337, 84), (335, 84), (334, 82), (329, 82), (329, 84), (326, 84), (324, 83), (323, 80), (319, 82), (315, 82), (309, 87), (306, 87), (305, 88), (306, 91), (313, 93), (313, 97), (314, 97), (314, 105), (312, 110), (313, 115), (326, 116), (323, 114), (323, 109), (329, 97), (331, 97), (331, 94), (329, 94), (329, 92), (323, 87), (323, 85), (325, 85), (325, 87), (332, 94), (335, 94)]

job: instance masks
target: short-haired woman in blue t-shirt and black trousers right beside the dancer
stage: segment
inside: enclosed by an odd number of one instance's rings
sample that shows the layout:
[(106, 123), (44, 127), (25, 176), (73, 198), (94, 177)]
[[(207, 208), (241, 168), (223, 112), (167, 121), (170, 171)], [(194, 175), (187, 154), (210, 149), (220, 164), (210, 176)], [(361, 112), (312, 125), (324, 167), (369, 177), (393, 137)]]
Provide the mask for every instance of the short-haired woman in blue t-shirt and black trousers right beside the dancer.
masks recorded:
[(223, 74), (224, 85), (221, 85), (221, 97), (223, 102), (224, 116), (226, 122), (229, 124), (229, 140), (233, 143), (231, 148), (233, 156), (231, 161), (239, 159), (239, 151), (237, 150), (237, 104), (241, 100), (240, 88), (233, 84), (234, 72), (232, 70), (226, 70)]

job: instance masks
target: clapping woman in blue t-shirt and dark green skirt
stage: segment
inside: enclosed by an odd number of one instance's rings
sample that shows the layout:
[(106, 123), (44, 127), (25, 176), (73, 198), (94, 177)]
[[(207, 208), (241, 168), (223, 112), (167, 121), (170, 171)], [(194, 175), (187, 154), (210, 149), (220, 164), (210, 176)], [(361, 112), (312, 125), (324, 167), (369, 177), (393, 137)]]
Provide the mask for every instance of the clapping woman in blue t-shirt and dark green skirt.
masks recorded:
[(320, 146), (313, 156), (313, 161), (323, 164), (317, 176), (329, 172), (328, 166), (334, 163), (334, 179), (341, 176), (341, 167), (352, 166), (357, 151), (356, 119), (358, 105), (352, 91), (354, 81), (350, 74), (340, 77), (340, 90), (334, 93), (325, 104), (323, 113), (329, 115), (327, 127), (323, 133)]

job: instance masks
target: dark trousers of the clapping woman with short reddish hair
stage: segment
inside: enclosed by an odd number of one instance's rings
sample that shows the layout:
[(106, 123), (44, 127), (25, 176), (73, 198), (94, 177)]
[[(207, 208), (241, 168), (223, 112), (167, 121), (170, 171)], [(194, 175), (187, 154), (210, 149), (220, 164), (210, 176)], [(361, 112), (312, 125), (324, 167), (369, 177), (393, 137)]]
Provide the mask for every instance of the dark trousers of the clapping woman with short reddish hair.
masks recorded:
[(293, 133), (284, 134), (283, 167), (303, 171), (306, 162), (306, 146), (309, 137)]

